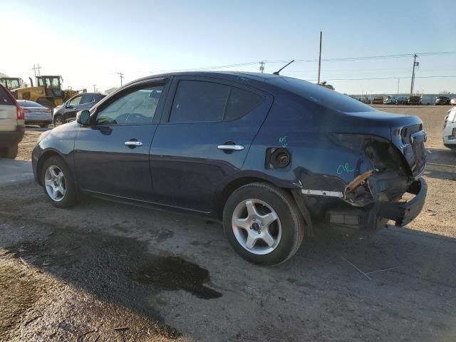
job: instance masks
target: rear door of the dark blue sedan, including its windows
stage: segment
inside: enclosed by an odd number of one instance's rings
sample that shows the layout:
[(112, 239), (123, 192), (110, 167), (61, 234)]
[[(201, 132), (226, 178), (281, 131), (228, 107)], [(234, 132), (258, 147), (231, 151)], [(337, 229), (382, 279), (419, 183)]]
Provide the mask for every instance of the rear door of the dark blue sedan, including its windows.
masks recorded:
[(215, 78), (173, 80), (150, 150), (155, 200), (210, 212), (217, 185), (242, 168), (272, 96)]

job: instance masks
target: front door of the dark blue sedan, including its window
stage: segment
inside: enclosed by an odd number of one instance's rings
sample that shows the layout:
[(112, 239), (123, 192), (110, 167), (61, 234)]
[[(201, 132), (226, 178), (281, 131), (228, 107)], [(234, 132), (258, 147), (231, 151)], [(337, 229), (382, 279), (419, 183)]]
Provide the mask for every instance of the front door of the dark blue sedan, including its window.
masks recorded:
[(121, 90), (92, 110), (93, 123), (75, 142), (76, 181), (81, 189), (149, 201), (149, 150), (160, 121), (163, 79)]

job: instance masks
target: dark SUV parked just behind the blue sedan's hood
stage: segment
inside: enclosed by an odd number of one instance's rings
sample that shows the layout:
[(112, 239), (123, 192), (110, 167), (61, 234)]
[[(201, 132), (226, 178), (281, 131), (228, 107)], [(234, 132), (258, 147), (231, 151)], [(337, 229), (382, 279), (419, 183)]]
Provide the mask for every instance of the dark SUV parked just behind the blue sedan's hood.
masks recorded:
[(100, 93), (81, 93), (67, 100), (63, 105), (55, 108), (53, 113), (53, 123), (61, 125), (76, 119), (79, 110), (90, 109), (95, 103), (104, 98)]

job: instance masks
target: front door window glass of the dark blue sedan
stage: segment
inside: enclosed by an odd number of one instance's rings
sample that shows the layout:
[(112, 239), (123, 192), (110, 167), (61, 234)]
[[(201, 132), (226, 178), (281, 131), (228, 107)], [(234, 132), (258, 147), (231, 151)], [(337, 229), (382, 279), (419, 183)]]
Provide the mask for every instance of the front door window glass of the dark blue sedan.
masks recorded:
[(98, 125), (152, 123), (163, 86), (135, 90), (98, 111)]

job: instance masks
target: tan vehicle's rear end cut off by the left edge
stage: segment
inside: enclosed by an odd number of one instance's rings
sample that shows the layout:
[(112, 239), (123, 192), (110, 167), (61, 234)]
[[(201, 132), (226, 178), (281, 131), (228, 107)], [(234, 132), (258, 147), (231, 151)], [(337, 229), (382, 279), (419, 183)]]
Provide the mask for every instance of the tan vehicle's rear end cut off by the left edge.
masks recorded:
[(0, 157), (16, 158), (24, 131), (24, 109), (13, 94), (0, 85)]

